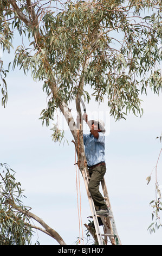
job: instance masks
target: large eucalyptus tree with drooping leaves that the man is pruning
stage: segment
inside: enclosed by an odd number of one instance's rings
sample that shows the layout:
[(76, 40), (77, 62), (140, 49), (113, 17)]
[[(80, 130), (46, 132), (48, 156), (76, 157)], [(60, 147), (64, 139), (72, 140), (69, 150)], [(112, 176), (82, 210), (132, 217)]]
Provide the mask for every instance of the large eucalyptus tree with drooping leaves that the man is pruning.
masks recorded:
[[(74, 137), (80, 170), (87, 168), (80, 97), (87, 102), (92, 95), (98, 102), (107, 97), (116, 120), (129, 112), (142, 115), (140, 93), (148, 87), (161, 91), (161, 7), (159, 0), (1, 1), (3, 51), (10, 52), (15, 31), (29, 39), (29, 46), (18, 43), (8, 70), (1, 60), (2, 105), (7, 103), (5, 76), (11, 67), (31, 72), (35, 81), (43, 81), (48, 96), (42, 123), (48, 126), (60, 109)], [(70, 111), (72, 101), (80, 124)], [(62, 136), (55, 126), (55, 141)]]

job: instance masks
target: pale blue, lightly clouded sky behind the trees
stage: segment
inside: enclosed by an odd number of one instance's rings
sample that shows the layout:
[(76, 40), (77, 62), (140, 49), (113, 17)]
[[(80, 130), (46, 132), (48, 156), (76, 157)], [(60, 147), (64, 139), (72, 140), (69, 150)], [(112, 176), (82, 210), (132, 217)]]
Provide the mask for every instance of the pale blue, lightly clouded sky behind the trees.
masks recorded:
[[(13, 52), (2, 54), (4, 63), (12, 59)], [(1, 163), (14, 169), (15, 178), (21, 182), (26, 206), (55, 229), (67, 245), (75, 245), (79, 237), (77, 191), (75, 173), (75, 148), (72, 135), (66, 129), (65, 142), (59, 145), (51, 139), (51, 125), (42, 126), (40, 113), (47, 106), (41, 82), (34, 82), (30, 74), (12, 71), (7, 77), (8, 103), (0, 107), (0, 156)], [(162, 132), (162, 95), (141, 95), (144, 114), (133, 114), (127, 120), (109, 117), (107, 102), (100, 106), (94, 100), (87, 105), (88, 117), (102, 113), (106, 123), (106, 185), (116, 228), (122, 245), (161, 245), (162, 229), (150, 235), (152, 223), (151, 200), (155, 199), (155, 175), (147, 185), (157, 163), (161, 143), (157, 136)], [(72, 111), (75, 112), (72, 103)], [(60, 125), (63, 119), (59, 118)], [(86, 124), (84, 132), (88, 133)], [(162, 155), (158, 163), (158, 182), (162, 191)], [(79, 177), (77, 175), (77, 180)], [(91, 215), (85, 184), (80, 176), (81, 219), (86, 244), (88, 216)], [(34, 222), (36, 225), (37, 223)], [(82, 238), (82, 234), (81, 234)], [(33, 244), (58, 245), (40, 231), (35, 231)]]

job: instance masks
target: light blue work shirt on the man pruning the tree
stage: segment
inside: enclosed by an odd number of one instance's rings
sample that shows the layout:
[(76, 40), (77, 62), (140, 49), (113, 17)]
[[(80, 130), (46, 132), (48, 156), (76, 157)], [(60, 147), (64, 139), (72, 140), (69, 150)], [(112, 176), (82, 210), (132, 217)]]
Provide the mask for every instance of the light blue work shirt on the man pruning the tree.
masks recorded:
[(105, 136), (99, 132), (99, 138), (96, 139), (91, 133), (83, 134), (83, 143), (85, 145), (85, 154), (88, 166), (105, 162)]

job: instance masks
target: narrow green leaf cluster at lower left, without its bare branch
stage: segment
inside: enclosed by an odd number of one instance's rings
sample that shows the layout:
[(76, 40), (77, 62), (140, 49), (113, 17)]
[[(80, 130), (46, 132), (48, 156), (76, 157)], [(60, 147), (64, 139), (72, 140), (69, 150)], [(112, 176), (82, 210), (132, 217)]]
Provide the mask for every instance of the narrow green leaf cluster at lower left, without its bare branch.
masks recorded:
[(25, 209), (21, 184), (7, 164), (0, 164), (0, 178), (0, 245), (30, 245), (29, 217), (16, 209)]

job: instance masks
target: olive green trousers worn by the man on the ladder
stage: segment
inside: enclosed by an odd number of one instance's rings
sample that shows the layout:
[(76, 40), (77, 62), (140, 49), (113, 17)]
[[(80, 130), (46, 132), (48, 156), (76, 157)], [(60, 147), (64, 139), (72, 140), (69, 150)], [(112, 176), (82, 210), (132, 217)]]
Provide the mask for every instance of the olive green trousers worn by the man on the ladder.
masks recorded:
[(102, 194), (99, 191), (100, 181), (106, 173), (106, 166), (96, 166), (93, 170), (89, 170), (90, 180), (88, 189), (92, 196), (95, 206), (99, 209), (107, 209), (107, 205)]

